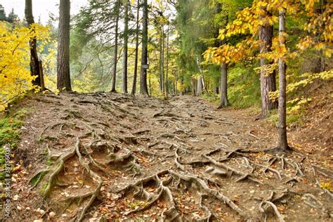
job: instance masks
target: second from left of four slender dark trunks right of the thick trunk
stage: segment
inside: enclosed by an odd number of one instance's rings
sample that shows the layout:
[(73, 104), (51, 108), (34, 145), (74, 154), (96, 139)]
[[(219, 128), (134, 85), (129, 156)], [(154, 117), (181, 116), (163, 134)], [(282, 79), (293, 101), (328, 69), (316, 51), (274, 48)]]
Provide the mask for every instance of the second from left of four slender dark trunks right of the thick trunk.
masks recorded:
[(129, 41), (129, 0), (125, 3), (125, 18), (124, 18), (124, 65), (123, 65), (123, 75), (122, 75), (122, 92), (127, 92), (127, 51), (128, 51), (128, 41)]

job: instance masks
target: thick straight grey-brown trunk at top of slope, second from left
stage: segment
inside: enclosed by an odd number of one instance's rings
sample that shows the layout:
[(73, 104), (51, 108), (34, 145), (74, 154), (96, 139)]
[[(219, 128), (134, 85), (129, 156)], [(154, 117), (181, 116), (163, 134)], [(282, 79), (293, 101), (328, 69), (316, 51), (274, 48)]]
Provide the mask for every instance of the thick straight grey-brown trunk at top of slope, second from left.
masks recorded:
[(72, 91), (70, 84), (70, 0), (60, 0), (57, 88)]

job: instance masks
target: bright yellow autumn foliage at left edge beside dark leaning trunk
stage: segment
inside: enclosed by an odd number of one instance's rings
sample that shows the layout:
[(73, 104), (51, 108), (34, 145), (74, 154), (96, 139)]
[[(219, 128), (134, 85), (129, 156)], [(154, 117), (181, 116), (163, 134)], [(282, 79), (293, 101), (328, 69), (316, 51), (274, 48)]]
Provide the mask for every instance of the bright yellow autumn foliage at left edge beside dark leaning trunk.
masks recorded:
[(0, 22), (0, 112), (14, 98), (32, 86), (35, 77), (30, 75), (29, 40), (37, 37), (39, 49), (50, 41), (49, 30), (39, 24), (12, 28), (7, 22)]

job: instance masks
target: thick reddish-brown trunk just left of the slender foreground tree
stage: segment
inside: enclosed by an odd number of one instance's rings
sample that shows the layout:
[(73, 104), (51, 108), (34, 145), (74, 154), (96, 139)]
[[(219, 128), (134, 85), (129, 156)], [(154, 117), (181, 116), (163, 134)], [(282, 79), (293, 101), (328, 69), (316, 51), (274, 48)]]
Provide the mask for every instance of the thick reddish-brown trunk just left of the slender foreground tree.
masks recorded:
[[(266, 12), (268, 14), (268, 12)], [(269, 15), (269, 14), (268, 14)], [(273, 39), (273, 26), (264, 25), (259, 29), (259, 39), (261, 40), (260, 53), (271, 51)], [(271, 64), (265, 58), (260, 59), (260, 88), (261, 88), (261, 117), (268, 117), (269, 110), (278, 107), (277, 101), (271, 101), (269, 98), (270, 91), (276, 91), (275, 71), (268, 73), (266, 65)]]

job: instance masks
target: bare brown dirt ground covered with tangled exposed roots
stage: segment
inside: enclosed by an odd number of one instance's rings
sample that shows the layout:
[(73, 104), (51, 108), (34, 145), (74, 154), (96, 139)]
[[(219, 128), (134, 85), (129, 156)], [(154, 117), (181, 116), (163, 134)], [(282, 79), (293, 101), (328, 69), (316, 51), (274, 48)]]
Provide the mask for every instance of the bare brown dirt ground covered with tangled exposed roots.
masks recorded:
[(258, 152), (276, 129), (244, 110), (115, 93), (23, 105), (8, 221), (333, 221), (332, 149)]

